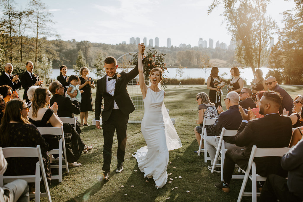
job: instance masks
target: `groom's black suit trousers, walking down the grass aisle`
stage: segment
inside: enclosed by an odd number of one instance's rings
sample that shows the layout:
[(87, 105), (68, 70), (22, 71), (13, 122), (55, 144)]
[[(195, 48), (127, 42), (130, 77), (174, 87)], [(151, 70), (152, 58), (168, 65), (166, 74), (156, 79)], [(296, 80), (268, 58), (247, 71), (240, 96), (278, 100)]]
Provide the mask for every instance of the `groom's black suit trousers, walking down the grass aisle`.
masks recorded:
[(113, 109), (108, 120), (103, 121), (103, 171), (110, 171), (112, 161), (112, 144), (116, 130), (118, 139), (117, 159), (118, 164), (124, 162), (126, 147), (126, 132), (129, 115), (125, 115), (120, 109)]

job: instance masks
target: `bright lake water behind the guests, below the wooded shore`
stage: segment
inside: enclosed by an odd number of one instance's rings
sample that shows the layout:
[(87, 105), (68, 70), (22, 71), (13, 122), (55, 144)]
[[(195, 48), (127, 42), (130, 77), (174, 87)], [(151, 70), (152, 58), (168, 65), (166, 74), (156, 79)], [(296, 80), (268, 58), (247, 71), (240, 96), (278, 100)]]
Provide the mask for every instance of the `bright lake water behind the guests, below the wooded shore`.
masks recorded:
[[(168, 78), (179, 79), (180, 78), (179, 75), (176, 76), (177, 69), (178, 68), (168, 68), (168, 71), (165, 72), (164, 75)], [(219, 76), (226, 79), (231, 78), (230, 69), (231, 68), (219, 68)], [(263, 77), (265, 77), (269, 69), (268, 68), (260, 68), (260, 69), (263, 71)], [(239, 70), (240, 70), (241, 78), (244, 80), (246, 79), (247, 83), (249, 84), (254, 78), (251, 68), (239, 68)], [(118, 72), (120, 72), (119, 68), (118, 68)], [(206, 72), (205, 69), (201, 69), (201, 68), (184, 68), (183, 72), (184, 73), (181, 76), (181, 79), (182, 78), (208, 78), (209, 74), (211, 73), (211, 68), (207, 68)], [(72, 75), (72, 74), (75, 74), (73, 69), (68, 69), (67, 75)], [(60, 69), (53, 69), (52, 78), (57, 78), (57, 76), (59, 75), (60, 75)], [(92, 77), (93, 79), (98, 79), (97, 76), (94, 74), (94, 72), (92, 72), (92, 70), (89, 76)]]

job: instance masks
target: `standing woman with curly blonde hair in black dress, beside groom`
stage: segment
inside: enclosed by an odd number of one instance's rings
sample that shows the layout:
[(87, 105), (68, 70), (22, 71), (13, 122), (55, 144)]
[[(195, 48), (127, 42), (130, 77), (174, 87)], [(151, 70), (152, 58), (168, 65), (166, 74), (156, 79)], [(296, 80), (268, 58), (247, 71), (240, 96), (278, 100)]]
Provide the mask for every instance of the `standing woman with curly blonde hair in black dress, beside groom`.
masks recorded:
[[(87, 117), (88, 117), (88, 111), (92, 111), (93, 107), (93, 101), (92, 101), (92, 89), (95, 88), (94, 80), (92, 80), (91, 77), (88, 77), (89, 70), (87, 67), (82, 67), (80, 69), (80, 86), (79, 89), (83, 90), (83, 93), (81, 93), (82, 101), (80, 103), (81, 113), (80, 113), (80, 126), (88, 126), (87, 123)], [(84, 122), (83, 122), (84, 119)]]

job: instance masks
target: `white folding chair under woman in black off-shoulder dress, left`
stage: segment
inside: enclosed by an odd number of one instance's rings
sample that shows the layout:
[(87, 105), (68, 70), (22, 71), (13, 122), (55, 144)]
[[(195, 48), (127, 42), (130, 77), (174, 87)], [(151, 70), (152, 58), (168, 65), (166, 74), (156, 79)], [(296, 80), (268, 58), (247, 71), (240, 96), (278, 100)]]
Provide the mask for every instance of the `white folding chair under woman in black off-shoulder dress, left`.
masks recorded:
[[(52, 175), (52, 179), (59, 180), (59, 182), (62, 182), (62, 168), (66, 168), (66, 172), (67, 173), (69, 172), (67, 156), (66, 156), (66, 149), (65, 149), (63, 126), (61, 126), (59, 128), (58, 127), (37, 127), (37, 128), (41, 135), (61, 135), (61, 139), (59, 140), (59, 148), (48, 151), (48, 154), (50, 154), (50, 156), (51, 156), (50, 159), (52, 159), (52, 154), (59, 155), (59, 157), (57, 159), (55, 159), (55, 160), (59, 161), (59, 165), (51, 165), (51, 168), (59, 169), (59, 174)], [(63, 147), (63, 150), (62, 150), (62, 147)], [(64, 151), (64, 158), (62, 158), (63, 151)], [(62, 165), (62, 161), (65, 161), (65, 165)]]

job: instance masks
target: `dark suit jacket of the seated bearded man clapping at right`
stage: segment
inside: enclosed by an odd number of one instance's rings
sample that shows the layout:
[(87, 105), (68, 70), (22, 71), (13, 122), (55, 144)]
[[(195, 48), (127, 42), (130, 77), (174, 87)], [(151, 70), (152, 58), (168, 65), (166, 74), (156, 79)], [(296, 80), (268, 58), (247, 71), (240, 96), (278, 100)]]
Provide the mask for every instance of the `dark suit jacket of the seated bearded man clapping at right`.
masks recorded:
[[(288, 116), (268, 114), (242, 122), (235, 136), (235, 143), (244, 150), (233, 150), (232, 155), (238, 159), (237, 164), (246, 168), (251, 153), (251, 148), (280, 148), (288, 147), (292, 134), (292, 123)], [(256, 171), (266, 177), (268, 174), (287, 174), (283, 172), (280, 164), (281, 157), (258, 157), (254, 159)]]

